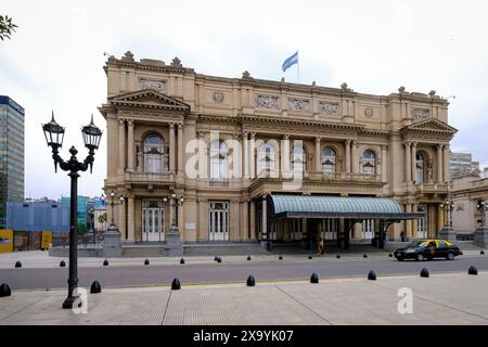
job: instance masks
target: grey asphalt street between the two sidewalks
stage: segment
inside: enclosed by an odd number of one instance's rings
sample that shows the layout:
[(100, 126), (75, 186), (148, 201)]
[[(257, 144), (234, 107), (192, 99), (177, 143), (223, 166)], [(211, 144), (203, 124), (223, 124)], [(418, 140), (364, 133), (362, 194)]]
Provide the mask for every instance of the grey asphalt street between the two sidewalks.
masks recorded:
[[(283, 260), (251, 260), (226, 264), (187, 264), (156, 266), (127, 266), (79, 268), (78, 285), (89, 287), (98, 280), (104, 287), (170, 285), (174, 278), (181, 284), (208, 284), (245, 282), (249, 274), (256, 281), (307, 280), (317, 272), (320, 279), (365, 277), (370, 270), (376, 275), (398, 275), (420, 273), (427, 268), (431, 275), (442, 272), (467, 272), (470, 266), (478, 271), (488, 270), (486, 256), (460, 256), (455, 260), (398, 261), (395, 258), (313, 258)], [(0, 269), (0, 283), (8, 283), (15, 290), (65, 288), (68, 268), (47, 269)]]

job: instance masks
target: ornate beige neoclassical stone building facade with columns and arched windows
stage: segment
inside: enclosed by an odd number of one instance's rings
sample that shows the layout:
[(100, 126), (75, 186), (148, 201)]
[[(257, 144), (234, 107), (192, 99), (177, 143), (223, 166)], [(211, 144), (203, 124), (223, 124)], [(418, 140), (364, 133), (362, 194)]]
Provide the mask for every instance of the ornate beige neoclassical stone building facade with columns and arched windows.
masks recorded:
[[(136, 61), (130, 52), (104, 69), (104, 189), (125, 197), (114, 217), (127, 242), (164, 242), (171, 223), (187, 243), (264, 233), (293, 242), (309, 232), (333, 242), (344, 231), (339, 218), (267, 218), (271, 194), (388, 197), (404, 213), (425, 214), (389, 227), (389, 239), (432, 236), (445, 224), (457, 130), (435, 91), (372, 95), (247, 72), (215, 77), (177, 57)], [(350, 237), (371, 239), (375, 228), (362, 220)]]

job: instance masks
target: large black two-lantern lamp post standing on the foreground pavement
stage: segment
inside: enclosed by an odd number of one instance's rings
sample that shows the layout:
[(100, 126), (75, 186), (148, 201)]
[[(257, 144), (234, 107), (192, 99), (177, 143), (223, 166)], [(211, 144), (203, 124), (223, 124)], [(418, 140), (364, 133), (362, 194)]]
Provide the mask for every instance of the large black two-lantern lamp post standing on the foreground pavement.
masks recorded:
[(75, 146), (69, 149), (72, 154), (69, 160), (65, 162), (59, 155), (59, 150), (63, 146), (64, 127), (60, 126), (54, 120), (54, 112), (50, 123), (42, 125), (46, 142), (52, 149), (52, 158), (54, 160), (54, 171), (57, 172), (57, 165), (63, 171), (69, 171), (70, 177), (70, 198), (69, 198), (69, 278), (68, 278), (68, 296), (63, 303), (63, 308), (70, 309), (74, 307), (77, 296), (73, 292), (78, 285), (78, 171), (86, 171), (90, 168), (92, 172), (94, 152), (99, 149), (100, 140), (102, 138), (102, 130), (93, 124), (93, 115), (88, 126), (81, 128), (85, 146), (89, 150), (88, 156), (82, 163), (78, 162), (76, 154), (78, 151)]

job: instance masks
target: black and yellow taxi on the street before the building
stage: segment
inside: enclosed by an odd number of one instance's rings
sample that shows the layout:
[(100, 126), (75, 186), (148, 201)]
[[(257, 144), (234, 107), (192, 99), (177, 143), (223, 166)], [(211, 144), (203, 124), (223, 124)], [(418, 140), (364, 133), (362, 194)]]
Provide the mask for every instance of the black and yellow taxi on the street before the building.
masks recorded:
[(394, 256), (398, 260), (415, 259), (432, 260), (434, 258), (444, 258), (454, 260), (454, 257), (462, 255), (461, 249), (446, 241), (438, 239), (415, 240), (406, 247), (395, 249)]

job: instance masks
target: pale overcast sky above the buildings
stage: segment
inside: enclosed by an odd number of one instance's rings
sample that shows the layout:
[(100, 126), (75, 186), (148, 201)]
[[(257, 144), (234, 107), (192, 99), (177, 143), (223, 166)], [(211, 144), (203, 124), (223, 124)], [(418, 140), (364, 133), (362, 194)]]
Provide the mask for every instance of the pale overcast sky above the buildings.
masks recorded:
[[(84, 158), (80, 127), (106, 99), (108, 52), (136, 60), (178, 56), (197, 73), (297, 80), (283, 61), (299, 50), (300, 82), (389, 94), (400, 86), (451, 98), (451, 150), (488, 165), (488, 21), (486, 1), (23, 1), (2, 0), (0, 12), (18, 25), (0, 41), (0, 94), (26, 110), (25, 194), (69, 194), (54, 174), (41, 123), (66, 127), (62, 156), (73, 144)], [(93, 174), (78, 192), (102, 193), (106, 132)]]

